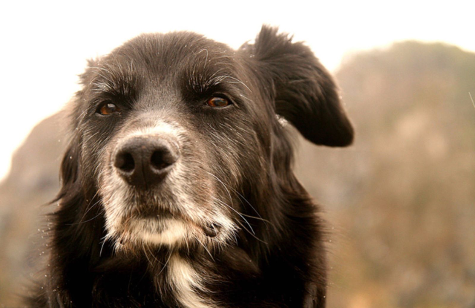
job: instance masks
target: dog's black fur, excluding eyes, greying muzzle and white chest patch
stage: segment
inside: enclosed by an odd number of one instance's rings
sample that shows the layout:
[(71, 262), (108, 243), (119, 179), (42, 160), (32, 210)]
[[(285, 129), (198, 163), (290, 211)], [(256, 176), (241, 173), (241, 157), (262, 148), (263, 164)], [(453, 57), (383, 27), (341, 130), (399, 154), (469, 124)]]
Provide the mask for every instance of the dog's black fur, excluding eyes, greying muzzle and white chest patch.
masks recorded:
[[(237, 51), (188, 32), (148, 34), (91, 61), (81, 80), (83, 89), (69, 105), (72, 138), (52, 214), (51, 266), (31, 307), (194, 307), (184, 306), (170, 285), (171, 255), (203, 277), (205, 288), (193, 291), (214, 303), (209, 307), (325, 306), (322, 219), (294, 176), (291, 142), (276, 114), (316, 144), (349, 145), (353, 130), (331, 76), (308, 47), (266, 26), (254, 44)], [(232, 105), (210, 108), (206, 102), (216, 95)], [(98, 116), (104, 101), (121, 112)], [(138, 247), (118, 237), (104, 240), (98, 193), (101, 168), (109, 168), (104, 151), (128, 125), (149, 125), (152, 115), (185, 128), (183, 164), (196, 172), (184, 185), (203, 185), (202, 194), (187, 196), (199, 207), (212, 191), (232, 205), (222, 211), (238, 226), (235, 241), (205, 249), (196, 241)], [(197, 157), (199, 164), (186, 161)], [(173, 185), (132, 197), (160, 195), (173, 205)]]

